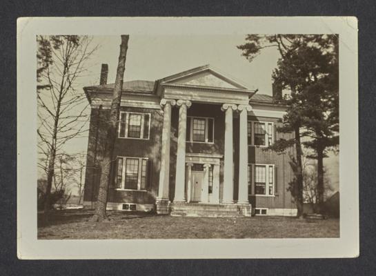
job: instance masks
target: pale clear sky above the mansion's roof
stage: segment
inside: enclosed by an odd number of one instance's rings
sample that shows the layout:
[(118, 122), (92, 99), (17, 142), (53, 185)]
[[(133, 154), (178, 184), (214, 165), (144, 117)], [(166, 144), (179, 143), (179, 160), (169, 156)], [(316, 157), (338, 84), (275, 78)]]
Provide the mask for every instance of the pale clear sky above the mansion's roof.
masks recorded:
[[(245, 42), (246, 34), (234, 35), (184, 35), (137, 36), (128, 41), (124, 81), (155, 81), (169, 75), (205, 64), (243, 83), (259, 94), (272, 95), (272, 72), (277, 66), (276, 48), (266, 48), (252, 62), (241, 56), (237, 46)], [(108, 64), (108, 83), (115, 82), (120, 37), (96, 36), (92, 45), (99, 48), (88, 62), (88, 73), (79, 79), (77, 88), (99, 85), (101, 63)], [(83, 91), (82, 91), (83, 92)], [(90, 110), (88, 110), (90, 112)], [(68, 152), (86, 152), (87, 137), (72, 139), (66, 146)], [(338, 187), (338, 157), (330, 155), (325, 160), (328, 174)]]

